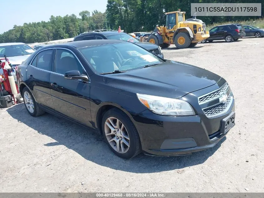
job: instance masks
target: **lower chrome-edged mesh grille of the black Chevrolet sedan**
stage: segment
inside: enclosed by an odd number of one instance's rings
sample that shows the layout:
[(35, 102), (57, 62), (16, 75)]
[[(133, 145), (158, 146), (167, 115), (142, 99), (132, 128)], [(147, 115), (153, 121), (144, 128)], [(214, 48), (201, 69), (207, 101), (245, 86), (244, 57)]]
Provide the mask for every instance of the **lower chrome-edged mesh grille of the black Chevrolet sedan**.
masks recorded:
[(232, 104), (232, 100), (233, 100), (233, 95), (231, 92), (229, 94), (226, 102), (217, 104), (217, 105), (212, 106), (212, 107), (205, 108), (205, 109), (203, 109), (203, 112), (207, 117), (213, 117), (213, 116), (217, 116), (218, 114), (222, 114), (226, 110), (229, 109), (230, 105)]

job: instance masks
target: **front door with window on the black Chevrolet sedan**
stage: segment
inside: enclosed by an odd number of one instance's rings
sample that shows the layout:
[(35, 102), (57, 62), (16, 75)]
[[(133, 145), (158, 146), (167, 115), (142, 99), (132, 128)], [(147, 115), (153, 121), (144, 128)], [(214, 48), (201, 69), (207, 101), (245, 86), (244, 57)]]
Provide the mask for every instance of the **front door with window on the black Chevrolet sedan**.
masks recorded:
[(67, 71), (78, 70), (87, 75), (81, 63), (71, 51), (58, 48), (55, 55), (54, 73), (50, 76), (50, 88), (55, 110), (92, 127), (90, 111), (90, 83), (65, 79)]

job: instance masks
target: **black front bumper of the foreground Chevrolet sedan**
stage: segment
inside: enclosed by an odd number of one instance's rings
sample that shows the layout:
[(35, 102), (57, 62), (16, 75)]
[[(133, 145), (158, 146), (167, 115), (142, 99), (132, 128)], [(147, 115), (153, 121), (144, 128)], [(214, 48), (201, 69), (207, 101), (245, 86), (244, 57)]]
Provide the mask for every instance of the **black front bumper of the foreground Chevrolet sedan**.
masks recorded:
[[(192, 106), (197, 111), (195, 105)], [(162, 116), (145, 110), (132, 117), (132, 122), (140, 136), (143, 153), (188, 155), (215, 146), (228, 133), (222, 132), (222, 120), (233, 112), (234, 99), (226, 113), (213, 118), (207, 118), (202, 109), (193, 116)]]

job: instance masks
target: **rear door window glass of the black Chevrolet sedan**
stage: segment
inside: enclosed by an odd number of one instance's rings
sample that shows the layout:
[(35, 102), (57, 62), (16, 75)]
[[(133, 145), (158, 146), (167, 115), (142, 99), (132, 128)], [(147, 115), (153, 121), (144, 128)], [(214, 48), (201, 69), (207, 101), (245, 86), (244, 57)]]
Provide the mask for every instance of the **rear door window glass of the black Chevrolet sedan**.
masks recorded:
[(51, 71), (52, 69), (52, 51), (53, 49), (44, 50), (34, 58), (32, 65), (35, 64), (35, 59), (37, 59), (36, 65), (33, 65), (39, 69), (45, 69)]

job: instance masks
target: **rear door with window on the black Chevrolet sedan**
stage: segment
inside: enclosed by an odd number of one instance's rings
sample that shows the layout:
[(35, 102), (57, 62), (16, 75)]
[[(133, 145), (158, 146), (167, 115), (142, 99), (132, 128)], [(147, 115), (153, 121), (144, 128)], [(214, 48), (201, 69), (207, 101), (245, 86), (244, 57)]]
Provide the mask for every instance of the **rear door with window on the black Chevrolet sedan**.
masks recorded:
[(27, 67), (27, 85), (37, 102), (54, 109), (49, 79), (52, 71), (53, 49), (39, 52)]

